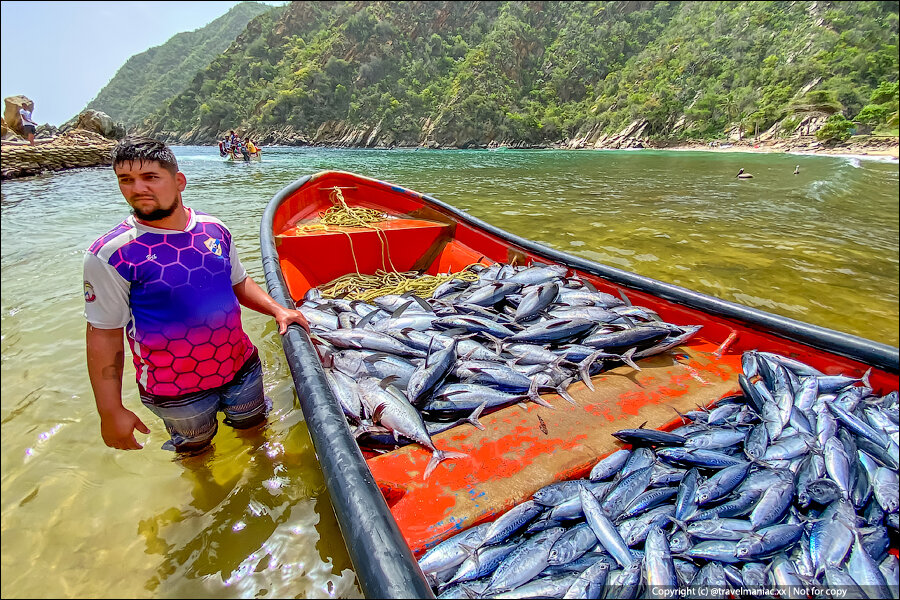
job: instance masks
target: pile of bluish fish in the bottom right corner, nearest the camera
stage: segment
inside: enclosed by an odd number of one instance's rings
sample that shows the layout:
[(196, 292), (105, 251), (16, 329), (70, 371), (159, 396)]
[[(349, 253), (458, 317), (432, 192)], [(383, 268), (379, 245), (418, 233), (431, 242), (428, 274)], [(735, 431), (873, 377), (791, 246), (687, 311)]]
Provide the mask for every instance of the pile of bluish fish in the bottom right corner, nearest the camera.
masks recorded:
[(897, 392), (742, 361), (743, 394), (431, 548), (438, 597), (896, 598)]

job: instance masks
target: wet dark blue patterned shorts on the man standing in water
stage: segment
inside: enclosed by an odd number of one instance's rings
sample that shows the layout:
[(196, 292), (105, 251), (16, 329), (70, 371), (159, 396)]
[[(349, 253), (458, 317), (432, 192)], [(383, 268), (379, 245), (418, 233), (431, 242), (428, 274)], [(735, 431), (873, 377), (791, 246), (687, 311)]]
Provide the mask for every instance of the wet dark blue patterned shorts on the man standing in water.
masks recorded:
[(192, 452), (205, 448), (219, 427), (217, 414), (225, 413), (225, 423), (246, 429), (261, 423), (269, 407), (262, 382), (262, 362), (254, 352), (229, 383), (184, 396), (154, 396), (138, 386), (141, 402), (163, 420), (171, 440), (163, 449)]

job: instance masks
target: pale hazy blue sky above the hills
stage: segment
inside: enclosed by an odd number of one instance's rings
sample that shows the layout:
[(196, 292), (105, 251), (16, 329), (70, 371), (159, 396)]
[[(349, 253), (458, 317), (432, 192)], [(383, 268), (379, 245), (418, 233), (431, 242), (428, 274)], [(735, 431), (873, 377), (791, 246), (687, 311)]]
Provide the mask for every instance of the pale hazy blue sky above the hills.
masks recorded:
[(34, 101), (34, 120), (58, 127), (93, 100), (126, 60), (209, 24), (235, 4), (0, 2), (0, 94), (27, 96)]

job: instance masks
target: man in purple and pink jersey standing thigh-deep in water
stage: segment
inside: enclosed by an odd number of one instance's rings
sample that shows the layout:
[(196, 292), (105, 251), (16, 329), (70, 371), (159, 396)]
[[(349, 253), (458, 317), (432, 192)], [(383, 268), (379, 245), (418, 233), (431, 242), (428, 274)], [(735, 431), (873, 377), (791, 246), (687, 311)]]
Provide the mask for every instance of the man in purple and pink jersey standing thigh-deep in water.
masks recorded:
[(113, 170), (132, 216), (100, 237), (84, 259), (88, 375), (107, 446), (140, 449), (146, 425), (122, 405), (123, 333), (134, 355), (141, 402), (171, 436), (163, 447), (205, 448), (226, 423), (265, 420), (262, 364), (241, 327), (244, 305), (270, 315), (282, 335), (303, 315), (279, 305), (238, 259), (215, 217), (182, 203), (187, 181), (175, 155), (149, 138), (125, 138)]

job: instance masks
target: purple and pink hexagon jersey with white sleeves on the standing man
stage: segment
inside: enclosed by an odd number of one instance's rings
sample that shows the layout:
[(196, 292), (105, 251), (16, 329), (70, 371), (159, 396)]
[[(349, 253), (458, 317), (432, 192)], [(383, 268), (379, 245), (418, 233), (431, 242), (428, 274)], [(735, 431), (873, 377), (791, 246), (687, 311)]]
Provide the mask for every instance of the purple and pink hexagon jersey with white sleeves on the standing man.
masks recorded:
[(84, 259), (84, 316), (100, 329), (125, 327), (138, 384), (181, 396), (230, 382), (254, 347), (232, 286), (247, 277), (231, 232), (190, 210), (184, 231), (129, 217)]

